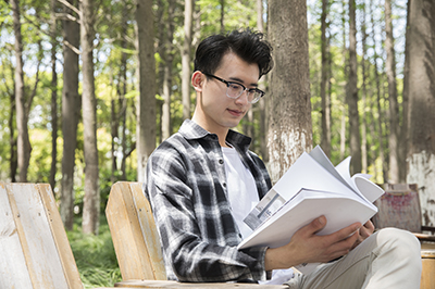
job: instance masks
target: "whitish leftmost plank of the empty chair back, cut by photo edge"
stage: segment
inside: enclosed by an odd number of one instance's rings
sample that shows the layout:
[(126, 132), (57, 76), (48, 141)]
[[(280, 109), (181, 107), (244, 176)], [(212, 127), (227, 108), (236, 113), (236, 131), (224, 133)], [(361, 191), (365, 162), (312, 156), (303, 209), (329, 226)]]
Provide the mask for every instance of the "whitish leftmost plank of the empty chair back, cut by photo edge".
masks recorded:
[(0, 288), (32, 288), (26, 260), (3, 183), (0, 183)]

